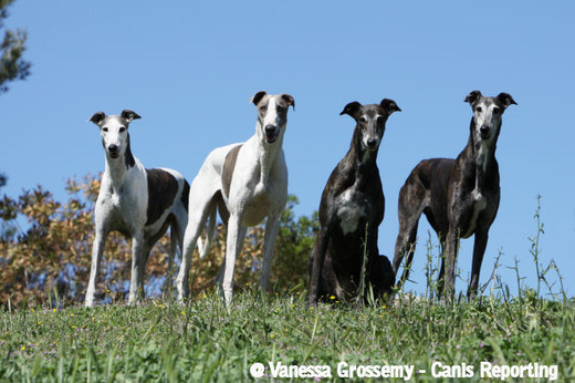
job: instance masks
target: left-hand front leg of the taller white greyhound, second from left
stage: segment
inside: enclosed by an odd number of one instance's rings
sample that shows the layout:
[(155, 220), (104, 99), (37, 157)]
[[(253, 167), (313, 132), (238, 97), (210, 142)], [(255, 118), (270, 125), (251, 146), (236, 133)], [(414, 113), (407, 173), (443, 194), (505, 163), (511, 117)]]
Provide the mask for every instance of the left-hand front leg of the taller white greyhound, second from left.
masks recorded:
[(226, 241), (226, 269), (223, 270), (223, 300), (226, 304), (231, 302), (233, 297), (233, 271), (236, 269), (236, 259), (243, 248), (247, 227), (241, 226), (241, 218), (233, 214), (228, 221), (228, 238)]

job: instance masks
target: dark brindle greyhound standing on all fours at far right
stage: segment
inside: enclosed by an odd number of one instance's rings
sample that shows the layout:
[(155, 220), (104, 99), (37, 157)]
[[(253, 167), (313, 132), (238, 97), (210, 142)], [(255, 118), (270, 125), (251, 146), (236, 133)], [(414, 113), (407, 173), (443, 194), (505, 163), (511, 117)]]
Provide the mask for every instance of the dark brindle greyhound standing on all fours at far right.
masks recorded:
[(432, 158), (420, 162), (399, 193), (399, 235), (394, 257), (396, 276), (406, 253), (407, 259), (398, 287), (409, 275), (417, 226), (421, 213), (425, 213), (440, 238), (443, 257), (438, 292), (441, 296), (445, 286), (448, 299), (454, 292), (459, 238), (469, 238), (473, 234), (475, 242), (468, 297), (471, 299), (477, 294), (488, 231), (498, 214), (500, 200), (495, 146), (501, 116), (509, 105), (516, 105), (508, 93), (484, 97), (479, 91), (471, 92), (466, 102), (471, 104), (473, 117), (463, 152), (456, 159)]

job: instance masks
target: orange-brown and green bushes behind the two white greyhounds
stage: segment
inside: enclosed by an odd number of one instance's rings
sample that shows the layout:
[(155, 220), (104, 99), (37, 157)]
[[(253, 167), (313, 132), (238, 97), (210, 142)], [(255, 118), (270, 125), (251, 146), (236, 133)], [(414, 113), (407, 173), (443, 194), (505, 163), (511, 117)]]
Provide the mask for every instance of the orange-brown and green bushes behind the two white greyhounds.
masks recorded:
[[(94, 240), (94, 203), (100, 190), (100, 177), (86, 176), (82, 182), (69, 179), (70, 195), (56, 201), (42, 186), (24, 190), (18, 199), (0, 199), (0, 304), (22, 301), (42, 303), (59, 301), (83, 302)], [(291, 289), (306, 278), (307, 257), (318, 229), (317, 216), (296, 218), (295, 197), (290, 197), (282, 215), (272, 266), (272, 286)], [(19, 221), (27, 220), (25, 230)], [(243, 251), (237, 260), (236, 282), (240, 287), (258, 281), (263, 259), (261, 226), (250, 228)], [(169, 238), (165, 236), (153, 249), (146, 266), (145, 293), (159, 296), (167, 273)], [(218, 226), (211, 251), (205, 260), (194, 256), (191, 288), (198, 293), (213, 284), (226, 255), (226, 228)], [(123, 300), (127, 296), (130, 273), (130, 245), (119, 234), (106, 240), (102, 275), (97, 281), (97, 299)], [(179, 262), (176, 263), (177, 275)], [(174, 280), (171, 281), (174, 283)], [(168, 283), (170, 284), (170, 283)]]

